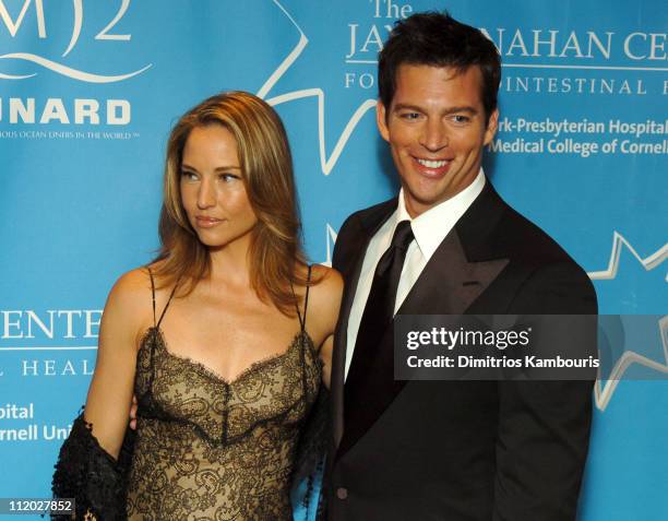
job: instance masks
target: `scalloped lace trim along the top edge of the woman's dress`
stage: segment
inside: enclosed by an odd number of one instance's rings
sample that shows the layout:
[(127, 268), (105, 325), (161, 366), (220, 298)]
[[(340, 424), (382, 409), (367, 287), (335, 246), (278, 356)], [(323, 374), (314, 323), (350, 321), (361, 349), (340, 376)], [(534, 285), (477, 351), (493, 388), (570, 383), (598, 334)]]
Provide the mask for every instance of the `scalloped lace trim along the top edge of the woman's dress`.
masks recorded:
[(181, 364), (186, 364), (192, 367), (193, 369), (195, 369), (199, 374), (227, 388), (231, 388), (232, 386), (236, 386), (244, 381), (249, 376), (260, 371), (260, 369), (264, 369), (265, 367), (275, 366), (279, 362), (282, 362), (284, 358), (287, 358), (293, 353), (293, 351), (297, 346), (300, 345), (300, 342), (299, 342), (300, 339), (305, 339), (308, 345), (308, 348), (311, 351), (311, 354), (315, 357), (318, 362), (320, 362), (320, 357), (318, 356), (318, 352), (313, 344), (313, 339), (311, 339), (311, 335), (305, 329), (305, 330), (298, 331), (295, 334), (295, 336), (293, 338), (293, 341), (288, 345), (287, 350), (285, 350), (284, 352), (277, 353), (274, 355), (269, 355), (264, 358), (260, 358), (259, 360), (253, 362), (247, 368), (241, 370), (235, 378), (228, 379), (228, 378), (225, 378), (223, 375), (220, 375), (218, 371), (208, 367), (206, 364), (203, 364), (202, 362), (195, 360), (194, 358), (191, 358), (189, 356), (178, 355), (169, 351), (167, 340), (165, 338), (165, 333), (163, 332), (159, 325), (152, 325), (148, 329), (146, 329), (146, 332), (144, 333), (144, 336), (140, 343), (140, 350), (144, 347), (146, 340), (150, 338), (152, 332), (153, 334), (159, 338), (158, 346), (162, 348), (162, 351), (165, 353), (165, 355), (168, 358), (177, 360)]

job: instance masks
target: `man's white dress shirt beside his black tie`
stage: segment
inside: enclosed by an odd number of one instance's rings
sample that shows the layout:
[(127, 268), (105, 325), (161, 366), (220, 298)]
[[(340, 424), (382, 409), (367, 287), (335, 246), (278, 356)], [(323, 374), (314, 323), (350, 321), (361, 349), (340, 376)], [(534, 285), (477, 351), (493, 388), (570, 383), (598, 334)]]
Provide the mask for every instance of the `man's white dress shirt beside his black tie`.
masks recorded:
[(348, 376), (350, 363), (353, 362), (353, 352), (355, 351), (355, 341), (357, 339), (357, 332), (359, 331), (359, 323), (361, 322), (365, 306), (369, 298), (369, 293), (371, 292), (375, 265), (385, 250), (390, 247), (396, 225), (402, 221), (410, 221), (415, 240), (408, 246), (406, 259), (404, 260), (402, 277), (399, 279), (396, 291), (396, 300), (394, 301), (395, 313), (420, 276), (420, 273), (422, 273), (431, 256), (454, 227), (460, 217), (468, 210), (468, 206), (470, 206), (480, 194), (484, 187), (485, 174), (482, 169), (480, 169), (477, 177), (468, 187), (455, 197), (443, 201), (415, 218), (410, 218), (406, 210), (404, 189), (399, 191), (397, 209), (371, 238), (365, 253), (359, 282), (357, 283), (355, 298), (350, 307), (350, 317), (348, 318), (346, 377)]

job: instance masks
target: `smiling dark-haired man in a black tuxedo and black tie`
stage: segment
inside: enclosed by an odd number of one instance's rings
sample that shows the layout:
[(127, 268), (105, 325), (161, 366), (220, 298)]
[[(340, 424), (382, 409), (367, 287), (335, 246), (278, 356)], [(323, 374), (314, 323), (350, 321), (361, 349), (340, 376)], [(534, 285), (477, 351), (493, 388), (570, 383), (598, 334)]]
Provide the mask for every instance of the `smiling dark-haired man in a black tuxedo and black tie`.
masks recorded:
[(481, 171), (500, 78), (493, 44), (444, 14), (397, 22), (380, 55), (402, 189), (348, 217), (334, 251), (330, 520), (575, 517), (591, 381), (394, 379), (393, 312), (596, 313), (583, 270)]

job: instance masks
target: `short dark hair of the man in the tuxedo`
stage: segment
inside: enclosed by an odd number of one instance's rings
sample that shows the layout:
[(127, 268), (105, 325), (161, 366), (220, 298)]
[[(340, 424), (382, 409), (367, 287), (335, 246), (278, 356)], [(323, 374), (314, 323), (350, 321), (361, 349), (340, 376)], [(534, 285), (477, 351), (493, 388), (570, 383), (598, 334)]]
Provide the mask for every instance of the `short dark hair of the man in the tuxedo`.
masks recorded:
[(486, 121), (497, 108), (501, 58), (494, 44), (479, 29), (448, 13), (416, 13), (394, 24), (378, 61), (379, 96), (386, 108), (394, 97), (396, 72), (403, 63), (449, 67), (460, 73), (478, 66)]

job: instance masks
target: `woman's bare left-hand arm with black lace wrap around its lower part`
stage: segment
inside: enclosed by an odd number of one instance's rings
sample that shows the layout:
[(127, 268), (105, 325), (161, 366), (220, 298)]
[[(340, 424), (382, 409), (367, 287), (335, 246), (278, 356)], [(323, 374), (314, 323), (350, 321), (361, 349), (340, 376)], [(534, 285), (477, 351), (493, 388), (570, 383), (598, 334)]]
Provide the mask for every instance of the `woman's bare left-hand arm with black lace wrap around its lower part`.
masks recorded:
[(146, 280), (135, 270), (111, 289), (85, 413), (76, 418), (60, 449), (53, 496), (75, 498), (76, 519), (124, 519), (130, 454), (126, 448), (119, 459), (119, 452), (132, 396), (139, 336), (142, 327), (152, 323)]

